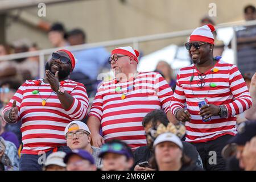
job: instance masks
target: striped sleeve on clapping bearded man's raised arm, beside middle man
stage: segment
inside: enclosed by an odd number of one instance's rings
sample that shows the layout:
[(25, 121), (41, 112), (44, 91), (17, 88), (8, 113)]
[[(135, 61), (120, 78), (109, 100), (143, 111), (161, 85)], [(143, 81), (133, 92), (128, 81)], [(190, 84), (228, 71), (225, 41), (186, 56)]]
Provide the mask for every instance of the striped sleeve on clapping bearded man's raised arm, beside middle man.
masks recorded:
[(89, 110), (89, 99), (83, 84), (79, 83), (72, 90), (71, 96), (74, 98), (72, 105), (66, 110), (73, 120), (81, 120), (86, 117)]

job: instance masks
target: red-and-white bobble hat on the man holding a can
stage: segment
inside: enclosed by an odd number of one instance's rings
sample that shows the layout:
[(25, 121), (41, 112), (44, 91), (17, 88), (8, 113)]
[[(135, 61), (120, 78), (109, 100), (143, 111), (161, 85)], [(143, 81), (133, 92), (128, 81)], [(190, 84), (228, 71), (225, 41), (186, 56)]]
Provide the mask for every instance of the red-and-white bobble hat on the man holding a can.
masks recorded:
[(213, 31), (215, 31), (215, 28), (212, 24), (207, 24), (207, 25), (198, 27), (192, 32), (189, 38), (189, 42), (201, 41), (201, 42), (214, 44), (214, 37), (212, 34)]

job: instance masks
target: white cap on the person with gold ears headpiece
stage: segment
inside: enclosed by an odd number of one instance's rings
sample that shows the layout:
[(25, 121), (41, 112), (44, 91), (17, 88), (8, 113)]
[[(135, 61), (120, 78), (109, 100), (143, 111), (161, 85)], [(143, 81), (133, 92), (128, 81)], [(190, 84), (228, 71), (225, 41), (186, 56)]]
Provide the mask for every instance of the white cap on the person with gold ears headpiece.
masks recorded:
[(162, 142), (174, 142), (177, 146), (183, 149), (183, 144), (180, 138), (170, 132), (160, 134), (158, 137), (156, 137), (153, 146), (155, 147), (157, 144)]

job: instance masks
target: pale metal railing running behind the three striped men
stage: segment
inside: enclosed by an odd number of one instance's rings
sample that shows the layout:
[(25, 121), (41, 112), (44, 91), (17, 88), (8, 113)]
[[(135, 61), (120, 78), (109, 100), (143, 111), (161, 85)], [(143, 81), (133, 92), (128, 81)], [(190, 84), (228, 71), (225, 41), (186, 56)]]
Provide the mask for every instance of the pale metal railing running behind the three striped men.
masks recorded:
[[(215, 26), (215, 28), (226, 28), (226, 27), (236, 27), (236, 26), (253, 26), (256, 25), (256, 20), (252, 20), (249, 22), (239, 21), (239, 22), (229, 22), (229, 23), (222, 23)], [(98, 46), (103, 47), (110, 47), (110, 46), (120, 46), (122, 44), (132, 44), (134, 49), (139, 49), (139, 43), (148, 42), (152, 40), (162, 40), (162, 39), (170, 39), (170, 38), (177, 38), (180, 36), (189, 36), (193, 29), (190, 30), (183, 30), (183, 31), (175, 31), (175, 32), (168, 32), (164, 34), (154, 34), (154, 35), (147, 35), (147, 36), (138, 36), (133, 38), (126, 38), (126, 39), (118, 39), (118, 40), (110, 40), (106, 42), (98, 42), (98, 43), (90, 43), (90, 44), (81, 44), (78, 46), (69, 46), (69, 47), (58, 47), (58, 48), (51, 48), (51, 49), (42, 49), (39, 51), (33, 52), (23, 52), (23, 53), (15, 53), (11, 55), (0, 56), (0, 60), (14, 60), (18, 58), (24, 57), (31, 57), (31, 56), (39, 56), (39, 68), (40, 68), (40, 77), (44, 77), (44, 61), (45, 56), (55, 52), (59, 49), (65, 48), (69, 49), (70, 51), (79, 51), (81, 49), (86, 48), (93, 48)], [(237, 63), (236, 55), (237, 55), (237, 41), (236, 36), (233, 36), (232, 40), (232, 49), (234, 51), (234, 63)]]

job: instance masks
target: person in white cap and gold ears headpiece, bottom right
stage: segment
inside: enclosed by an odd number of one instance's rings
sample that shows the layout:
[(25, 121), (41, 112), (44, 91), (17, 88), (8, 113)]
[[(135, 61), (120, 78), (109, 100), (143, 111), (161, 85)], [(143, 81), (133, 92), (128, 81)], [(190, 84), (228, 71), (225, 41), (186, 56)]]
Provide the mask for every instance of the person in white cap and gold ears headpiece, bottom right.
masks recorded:
[(203, 171), (196, 167), (183, 152), (183, 144), (179, 137), (172, 133), (163, 133), (156, 137), (154, 156), (151, 166), (159, 171)]

